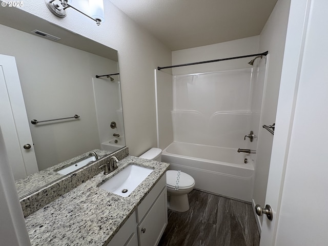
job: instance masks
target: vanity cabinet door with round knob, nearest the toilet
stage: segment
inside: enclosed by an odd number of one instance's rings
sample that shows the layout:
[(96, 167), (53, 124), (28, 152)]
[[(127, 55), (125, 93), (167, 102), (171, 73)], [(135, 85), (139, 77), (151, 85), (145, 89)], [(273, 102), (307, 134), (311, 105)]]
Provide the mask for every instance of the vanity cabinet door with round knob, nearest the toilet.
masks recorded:
[(139, 245), (157, 245), (167, 224), (167, 189), (165, 187), (138, 226)]

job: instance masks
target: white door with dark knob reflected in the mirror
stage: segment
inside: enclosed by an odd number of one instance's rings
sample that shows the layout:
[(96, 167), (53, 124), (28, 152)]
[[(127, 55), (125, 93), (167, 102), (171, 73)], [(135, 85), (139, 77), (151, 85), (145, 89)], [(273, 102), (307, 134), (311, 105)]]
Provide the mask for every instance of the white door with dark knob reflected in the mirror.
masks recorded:
[[(0, 126), (15, 179), (38, 172), (15, 57), (0, 55)], [(25, 148), (24, 148), (25, 147)]]

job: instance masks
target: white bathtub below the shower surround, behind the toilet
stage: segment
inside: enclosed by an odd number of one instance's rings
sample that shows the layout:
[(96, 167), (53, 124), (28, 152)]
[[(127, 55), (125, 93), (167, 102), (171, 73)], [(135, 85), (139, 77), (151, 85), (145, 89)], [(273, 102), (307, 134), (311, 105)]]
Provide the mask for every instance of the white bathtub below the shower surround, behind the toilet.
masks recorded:
[[(244, 163), (247, 158), (248, 163)], [(190, 174), (195, 189), (251, 202), (254, 161), (237, 149), (172, 142), (162, 152), (170, 169)]]

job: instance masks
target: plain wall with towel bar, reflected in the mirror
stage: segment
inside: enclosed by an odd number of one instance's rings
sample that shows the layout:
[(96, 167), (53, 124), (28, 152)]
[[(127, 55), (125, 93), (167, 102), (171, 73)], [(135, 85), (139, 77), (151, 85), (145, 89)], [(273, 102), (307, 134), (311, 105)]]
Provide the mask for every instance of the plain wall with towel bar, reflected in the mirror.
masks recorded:
[(3, 25), (0, 32), (0, 53), (16, 59), (39, 170), (99, 149), (92, 77), (117, 73), (117, 62)]

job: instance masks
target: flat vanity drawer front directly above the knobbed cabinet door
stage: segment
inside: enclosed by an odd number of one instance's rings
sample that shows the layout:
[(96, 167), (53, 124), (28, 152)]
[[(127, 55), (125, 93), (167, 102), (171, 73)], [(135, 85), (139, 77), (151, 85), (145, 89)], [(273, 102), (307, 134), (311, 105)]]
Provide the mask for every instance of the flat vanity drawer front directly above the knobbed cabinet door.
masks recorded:
[[(146, 198), (139, 204), (137, 208), (137, 222), (140, 222), (144, 218), (147, 211), (150, 209), (154, 201), (156, 200), (158, 194), (165, 187), (166, 189), (166, 174), (164, 174), (153, 187), (153, 189), (148, 193)], [(167, 201), (165, 201), (167, 202)]]

